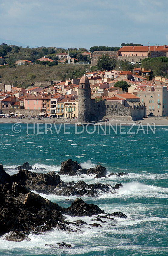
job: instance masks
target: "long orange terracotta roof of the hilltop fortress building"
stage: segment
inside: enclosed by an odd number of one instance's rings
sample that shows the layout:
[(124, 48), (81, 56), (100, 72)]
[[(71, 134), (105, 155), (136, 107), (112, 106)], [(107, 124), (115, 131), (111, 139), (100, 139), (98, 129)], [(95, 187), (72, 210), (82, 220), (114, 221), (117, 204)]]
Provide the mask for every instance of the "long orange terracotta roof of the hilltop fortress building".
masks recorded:
[[(160, 46), (150, 46), (150, 51), (155, 52), (168, 52), (168, 46), (165, 45), (166, 48), (164, 48), (164, 45)], [(148, 52), (149, 48), (148, 46), (123, 46), (120, 48), (119, 52)]]

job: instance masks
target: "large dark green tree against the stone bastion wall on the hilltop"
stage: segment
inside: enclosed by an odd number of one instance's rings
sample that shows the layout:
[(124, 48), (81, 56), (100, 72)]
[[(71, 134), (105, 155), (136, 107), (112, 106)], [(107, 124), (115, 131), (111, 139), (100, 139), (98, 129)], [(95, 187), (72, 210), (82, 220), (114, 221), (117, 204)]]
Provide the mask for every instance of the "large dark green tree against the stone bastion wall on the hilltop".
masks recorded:
[(110, 59), (109, 55), (103, 54), (101, 57), (98, 58), (97, 61), (97, 69), (102, 70), (112, 70), (116, 66), (116, 60)]

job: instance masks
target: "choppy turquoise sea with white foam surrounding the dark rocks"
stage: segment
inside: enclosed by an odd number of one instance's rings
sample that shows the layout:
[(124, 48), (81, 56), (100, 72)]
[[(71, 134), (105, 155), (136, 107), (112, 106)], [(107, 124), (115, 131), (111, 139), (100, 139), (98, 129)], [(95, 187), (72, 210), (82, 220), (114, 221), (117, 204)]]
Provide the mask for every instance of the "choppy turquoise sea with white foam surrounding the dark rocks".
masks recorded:
[[(92, 227), (95, 217), (80, 217), (87, 225), (76, 232), (55, 229), (43, 235), (30, 234), (31, 241), (9, 242), (0, 238), (0, 255), (168, 255), (168, 126), (156, 126), (155, 133), (143, 126), (117, 126), (117, 133), (104, 126), (66, 127), (53, 124), (51, 130), (45, 124), (40, 130), (35, 124), (28, 130), (21, 123), (21, 131), (12, 131), (12, 123), (0, 124), (0, 156), (4, 168), (12, 168), (28, 161), (33, 167), (58, 172), (61, 162), (71, 158), (90, 168), (101, 164), (110, 172), (127, 172), (128, 176), (111, 176), (93, 179), (91, 176), (61, 175), (63, 181), (84, 180), (87, 183), (122, 183), (116, 194), (104, 193), (99, 198), (83, 197), (88, 203), (97, 204), (107, 213), (121, 211), (127, 219)], [(55, 125), (55, 126), (54, 126)], [(33, 124), (28, 124), (33, 127)], [(60, 128), (60, 130), (59, 130)], [(116, 127), (115, 127), (116, 128)], [(95, 129), (95, 132), (93, 132)], [(98, 130), (99, 129), (99, 130)], [(38, 133), (41, 132), (41, 134)], [(52, 131), (52, 134), (51, 134)], [(120, 133), (122, 132), (122, 134)], [(65, 133), (66, 132), (66, 133)], [(68, 133), (69, 132), (69, 133)], [(124, 133), (125, 132), (125, 133)], [(37, 170), (38, 171), (38, 170)], [(41, 172), (41, 170), (39, 170)], [(68, 207), (75, 197), (44, 195), (61, 206)], [(65, 200), (66, 198), (71, 201)], [(69, 217), (74, 221), (79, 217)], [(100, 223), (101, 224), (101, 223)], [(54, 249), (45, 244), (65, 242), (70, 249)]]

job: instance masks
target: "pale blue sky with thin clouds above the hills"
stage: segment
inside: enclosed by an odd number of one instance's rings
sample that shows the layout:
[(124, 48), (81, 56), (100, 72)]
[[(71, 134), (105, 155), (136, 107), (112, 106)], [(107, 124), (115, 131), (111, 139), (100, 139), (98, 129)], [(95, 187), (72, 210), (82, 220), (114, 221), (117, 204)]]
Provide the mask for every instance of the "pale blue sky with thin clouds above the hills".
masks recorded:
[(0, 0), (0, 17), (0, 43), (8, 45), (168, 45), (167, 0)]

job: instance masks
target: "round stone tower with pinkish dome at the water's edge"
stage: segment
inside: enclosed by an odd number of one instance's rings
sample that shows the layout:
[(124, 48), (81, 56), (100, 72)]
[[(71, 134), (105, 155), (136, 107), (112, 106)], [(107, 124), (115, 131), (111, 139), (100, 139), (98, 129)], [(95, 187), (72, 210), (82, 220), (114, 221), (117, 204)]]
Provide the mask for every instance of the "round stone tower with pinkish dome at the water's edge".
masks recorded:
[(78, 121), (87, 123), (91, 115), (91, 87), (87, 76), (82, 76), (78, 89)]

